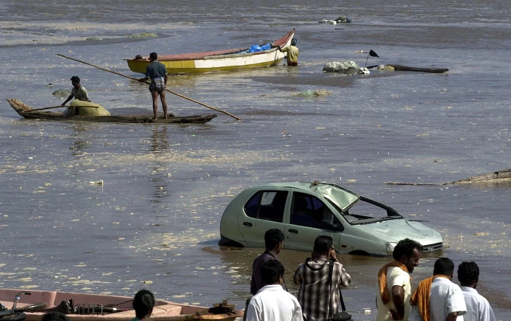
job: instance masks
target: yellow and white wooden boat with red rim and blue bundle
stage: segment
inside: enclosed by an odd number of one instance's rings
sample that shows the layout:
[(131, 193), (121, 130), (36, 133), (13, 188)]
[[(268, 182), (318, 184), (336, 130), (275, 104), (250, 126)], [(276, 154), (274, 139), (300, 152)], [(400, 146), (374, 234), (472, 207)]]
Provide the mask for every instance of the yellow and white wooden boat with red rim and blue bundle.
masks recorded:
[[(167, 67), (169, 74), (197, 74), (274, 66), (285, 58), (284, 53), (278, 50), (277, 45), (285, 48), (291, 43), (293, 36), (294, 29), (281, 39), (272, 42), (270, 49), (260, 52), (250, 53), (248, 52), (249, 48), (241, 48), (202, 53), (158, 55), (158, 61)], [(150, 62), (149, 57), (137, 57), (125, 60), (128, 62), (131, 71), (145, 74), (146, 67)]]

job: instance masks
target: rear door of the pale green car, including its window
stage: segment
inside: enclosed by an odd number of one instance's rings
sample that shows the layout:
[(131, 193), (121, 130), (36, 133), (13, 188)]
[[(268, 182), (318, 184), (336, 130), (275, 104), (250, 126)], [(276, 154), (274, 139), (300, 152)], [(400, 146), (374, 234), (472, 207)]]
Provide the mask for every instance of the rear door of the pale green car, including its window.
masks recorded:
[(238, 215), (240, 232), (247, 246), (264, 247), (264, 234), (271, 228), (284, 232), (288, 194), (284, 189), (265, 189), (248, 198)]

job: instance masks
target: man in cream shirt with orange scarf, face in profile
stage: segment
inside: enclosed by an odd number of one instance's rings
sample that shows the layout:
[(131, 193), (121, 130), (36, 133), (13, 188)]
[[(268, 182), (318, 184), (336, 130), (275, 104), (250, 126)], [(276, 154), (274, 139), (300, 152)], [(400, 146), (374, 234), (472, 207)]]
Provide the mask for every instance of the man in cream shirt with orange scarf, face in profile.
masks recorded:
[(422, 246), (419, 242), (404, 239), (392, 253), (394, 261), (385, 264), (378, 272), (376, 282), (376, 321), (408, 320), (410, 314), (410, 275), (419, 265)]

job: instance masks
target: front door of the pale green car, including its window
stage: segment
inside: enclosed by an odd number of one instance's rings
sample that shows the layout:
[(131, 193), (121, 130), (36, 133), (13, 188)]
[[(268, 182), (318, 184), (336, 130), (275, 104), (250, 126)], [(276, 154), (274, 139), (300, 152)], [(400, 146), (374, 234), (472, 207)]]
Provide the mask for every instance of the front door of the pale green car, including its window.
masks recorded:
[[(305, 209), (304, 200), (307, 204)], [(324, 203), (314, 195), (296, 191), (292, 193), (289, 203), (289, 215), (284, 227), (285, 248), (312, 250), (316, 238), (327, 235), (334, 239), (334, 245), (339, 250), (342, 226), (333, 215), (331, 204)]]

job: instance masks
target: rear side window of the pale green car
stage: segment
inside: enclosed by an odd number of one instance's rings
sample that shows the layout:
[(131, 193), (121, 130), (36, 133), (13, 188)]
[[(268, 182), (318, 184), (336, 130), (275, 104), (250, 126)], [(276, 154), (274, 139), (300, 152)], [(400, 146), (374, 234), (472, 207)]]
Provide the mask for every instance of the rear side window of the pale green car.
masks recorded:
[(287, 191), (260, 191), (245, 204), (245, 214), (252, 218), (282, 222), (286, 208)]

